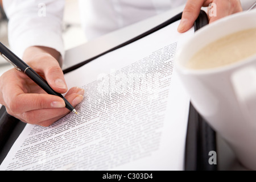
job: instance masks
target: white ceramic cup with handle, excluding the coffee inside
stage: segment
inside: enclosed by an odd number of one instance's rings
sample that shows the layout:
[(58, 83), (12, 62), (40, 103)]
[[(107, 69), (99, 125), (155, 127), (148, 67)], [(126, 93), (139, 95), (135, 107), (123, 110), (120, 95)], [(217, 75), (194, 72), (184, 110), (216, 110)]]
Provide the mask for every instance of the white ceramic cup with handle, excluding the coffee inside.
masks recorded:
[(195, 109), (238, 160), (256, 170), (256, 55), (219, 68), (185, 67), (207, 44), (249, 28), (256, 28), (256, 11), (230, 15), (201, 28), (177, 51), (175, 69)]

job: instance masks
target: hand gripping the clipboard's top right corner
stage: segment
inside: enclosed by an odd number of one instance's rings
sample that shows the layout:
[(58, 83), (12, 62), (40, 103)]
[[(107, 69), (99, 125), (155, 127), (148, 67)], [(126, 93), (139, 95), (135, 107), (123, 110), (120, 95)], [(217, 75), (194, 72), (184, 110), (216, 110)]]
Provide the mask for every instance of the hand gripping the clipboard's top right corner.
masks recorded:
[(242, 11), (240, 0), (188, 0), (177, 31), (182, 33), (189, 30), (199, 16), (201, 7), (207, 7), (210, 3), (216, 5), (216, 16), (208, 15), (209, 23)]

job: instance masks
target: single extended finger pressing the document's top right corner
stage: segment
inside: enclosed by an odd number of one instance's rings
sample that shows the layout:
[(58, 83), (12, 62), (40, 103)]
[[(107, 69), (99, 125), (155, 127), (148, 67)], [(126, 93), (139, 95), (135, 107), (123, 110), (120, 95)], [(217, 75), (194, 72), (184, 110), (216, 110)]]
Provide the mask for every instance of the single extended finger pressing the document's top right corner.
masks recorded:
[(188, 0), (185, 8), (183, 10), (183, 14), (180, 20), (179, 27), (177, 31), (183, 33), (189, 30), (197, 17), (199, 16), (201, 7), (203, 6), (204, 0)]

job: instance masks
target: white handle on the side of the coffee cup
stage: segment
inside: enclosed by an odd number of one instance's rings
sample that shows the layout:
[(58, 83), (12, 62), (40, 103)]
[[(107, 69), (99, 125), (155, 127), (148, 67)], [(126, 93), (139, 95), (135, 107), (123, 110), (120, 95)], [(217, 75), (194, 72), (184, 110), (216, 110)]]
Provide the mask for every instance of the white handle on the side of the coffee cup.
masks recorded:
[(256, 68), (245, 67), (231, 76), (234, 93), (245, 118), (256, 119)]

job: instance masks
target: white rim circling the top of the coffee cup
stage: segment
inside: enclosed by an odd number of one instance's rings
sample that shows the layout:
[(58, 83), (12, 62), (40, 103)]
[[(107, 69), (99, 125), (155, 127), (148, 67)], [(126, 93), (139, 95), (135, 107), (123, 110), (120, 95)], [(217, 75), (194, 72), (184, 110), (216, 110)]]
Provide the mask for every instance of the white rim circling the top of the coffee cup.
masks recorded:
[[(180, 72), (182, 73), (186, 73), (186, 74), (193, 74), (193, 75), (209, 75), (209, 74), (214, 74), (214, 73), (220, 73), (220, 72), (224, 72), (224, 71), (228, 71), (230, 69), (234, 69), (237, 67), (240, 67), (241, 65), (245, 65), (250, 63), (251, 61), (255, 60), (256, 58), (256, 53), (250, 57), (246, 57), (243, 60), (237, 61), (236, 63), (232, 63), (232, 64), (228, 64), (228, 65), (223, 65), (220, 67), (215, 67), (215, 68), (205, 68), (205, 69), (192, 69), (192, 68), (187, 68), (183, 65), (184, 61), (181, 63), (181, 61), (179, 61), (179, 57), (181, 55), (184, 54), (184, 49), (188, 49), (189, 47), (191, 47), (191, 44), (193, 43), (195, 46), (195, 40), (197, 38), (200, 37), (201, 34), (205, 34), (208, 31), (211, 31), (212, 28), (216, 28), (216, 27), (221, 27), (222, 24), (226, 24), (228, 23), (228, 21), (233, 20), (235, 21), (235, 19), (237, 17), (245, 19), (248, 16), (255, 16), (256, 18), (256, 10), (252, 10), (249, 12), (246, 11), (242, 11), (240, 13), (236, 13), (233, 15), (229, 15), (226, 16), (225, 18), (222, 18), (220, 20), (217, 20), (216, 22), (213, 22), (211, 24), (208, 24), (207, 26), (200, 28), (197, 32), (195, 32), (195, 35), (192, 36), (192, 38), (190, 38), (187, 42), (184, 43), (184, 45), (182, 47), (180, 47), (177, 50), (176, 56), (175, 56), (175, 68), (178, 69)], [(256, 24), (255, 24), (255, 28), (256, 28)], [(244, 28), (243, 30), (246, 30), (249, 28)], [(238, 31), (234, 31), (234, 32), (239, 32)], [(232, 34), (232, 33), (230, 33)], [(222, 36), (220, 36), (221, 38)], [(209, 44), (210, 42), (208, 42), (207, 44)], [(198, 51), (198, 50), (197, 50)]]

